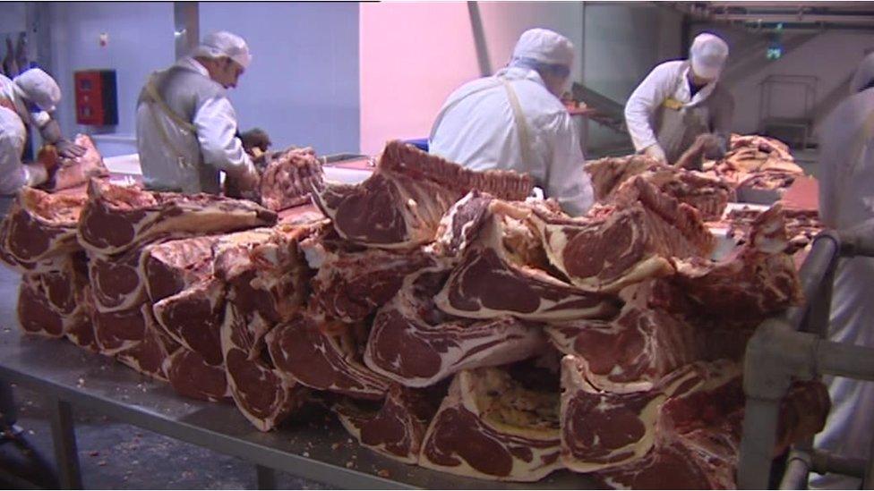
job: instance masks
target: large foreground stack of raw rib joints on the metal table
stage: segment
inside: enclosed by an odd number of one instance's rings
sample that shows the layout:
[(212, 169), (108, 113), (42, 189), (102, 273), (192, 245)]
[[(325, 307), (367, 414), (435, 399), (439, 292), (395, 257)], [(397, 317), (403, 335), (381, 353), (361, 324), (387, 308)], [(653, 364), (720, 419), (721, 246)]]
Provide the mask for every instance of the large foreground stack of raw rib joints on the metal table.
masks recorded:
[[(98, 182), (60, 213), (73, 197), (25, 191), (0, 229), (26, 272), (21, 325), (230, 397), (265, 431), (317, 399), (361, 444), (435, 470), (734, 486), (745, 343), (801, 301), (782, 215), (714, 262), (674, 184), (638, 175), (570, 218), (527, 199), (527, 176), (400, 142), (367, 181), (314, 188), (323, 216), (279, 219)], [(56, 292), (56, 275), (74, 281)], [(818, 382), (794, 385), (775, 453), (827, 409)]]

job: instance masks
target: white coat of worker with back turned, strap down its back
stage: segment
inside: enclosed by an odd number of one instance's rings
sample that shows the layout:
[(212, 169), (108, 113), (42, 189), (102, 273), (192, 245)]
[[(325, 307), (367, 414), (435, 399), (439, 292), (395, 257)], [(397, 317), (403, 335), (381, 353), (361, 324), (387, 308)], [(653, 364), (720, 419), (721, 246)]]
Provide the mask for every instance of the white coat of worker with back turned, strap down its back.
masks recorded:
[[(530, 162), (522, 157), (513, 108), (501, 79), (515, 90), (527, 121)], [(432, 154), (475, 171), (531, 174), (546, 197), (557, 199), (570, 215), (582, 215), (592, 206), (595, 193), (583, 170), (585, 157), (570, 114), (536, 71), (510, 67), (468, 82), (450, 95), (441, 114), (429, 143)]]

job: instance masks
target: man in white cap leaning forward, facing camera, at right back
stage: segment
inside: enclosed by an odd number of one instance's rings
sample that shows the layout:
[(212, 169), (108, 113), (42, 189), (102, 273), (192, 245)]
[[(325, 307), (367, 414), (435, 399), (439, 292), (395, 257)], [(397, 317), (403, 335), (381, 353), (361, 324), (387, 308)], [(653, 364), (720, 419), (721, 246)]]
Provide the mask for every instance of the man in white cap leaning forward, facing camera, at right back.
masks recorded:
[(692, 42), (690, 60), (662, 63), (647, 75), (625, 105), (634, 148), (675, 163), (701, 135), (707, 157), (722, 157), (731, 137), (734, 99), (719, 83), (728, 45), (710, 33)]

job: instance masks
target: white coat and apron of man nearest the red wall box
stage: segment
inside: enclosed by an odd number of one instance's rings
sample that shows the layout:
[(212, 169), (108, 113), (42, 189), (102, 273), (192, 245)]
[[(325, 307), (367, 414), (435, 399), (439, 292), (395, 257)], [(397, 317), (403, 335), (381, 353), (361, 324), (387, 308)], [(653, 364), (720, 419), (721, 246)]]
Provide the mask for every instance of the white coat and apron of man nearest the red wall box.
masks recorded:
[[(179, 59), (176, 66), (198, 72), (206, 78), (210, 76), (210, 72), (192, 57)], [(194, 113), (192, 124), (196, 134), (180, 127), (156, 106), (141, 103), (137, 107), (137, 147), (147, 186), (188, 193), (218, 193), (218, 189), (202, 189), (199, 174), (202, 172), (201, 165), (210, 165), (215, 173), (220, 170), (231, 175), (253, 169), (252, 159), (245, 153), (243, 142), (236, 138), (234, 106), (231, 106), (224, 89), (220, 90), (220, 94), (207, 99)], [(165, 144), (155, 119), (167, 131), (172, 146)], [(176, 150), (182, 155), (177, 155)], [(181, 165), (179, 157), (183, 157), (187, 164)]]

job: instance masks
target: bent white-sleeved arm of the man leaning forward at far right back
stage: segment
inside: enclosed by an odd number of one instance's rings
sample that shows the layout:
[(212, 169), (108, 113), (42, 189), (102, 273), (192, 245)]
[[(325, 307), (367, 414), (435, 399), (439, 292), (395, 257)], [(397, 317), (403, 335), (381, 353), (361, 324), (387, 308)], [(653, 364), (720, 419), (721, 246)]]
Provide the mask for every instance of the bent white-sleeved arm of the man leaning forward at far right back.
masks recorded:
[(674, 72), (675, 69), (670, 64), (663, 63), (656, 66), (652, 72), (649, 72), (647, 78), (640, 82), (638, 88), (634, 89), (625, 104), (625, 125), (631, 135), (631, 142), (638, 152), (658, 145), (656, 131), (650, 124), (650, 118), (658, 106), (664, 104), (665, 99), (671, 96), (675, 85)]

